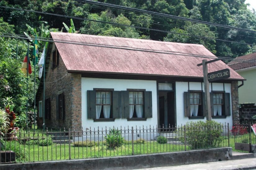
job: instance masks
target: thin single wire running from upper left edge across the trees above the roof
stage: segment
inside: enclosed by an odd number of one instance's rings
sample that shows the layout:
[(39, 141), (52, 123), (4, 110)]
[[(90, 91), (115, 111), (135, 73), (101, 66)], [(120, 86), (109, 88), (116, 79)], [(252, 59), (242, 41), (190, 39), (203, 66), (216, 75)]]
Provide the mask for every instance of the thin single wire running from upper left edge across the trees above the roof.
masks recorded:
[(211, 38), (211, 37), (196, 36), (196, 35), (184, 34), (184, 33), (179, 33), (179, 32), (164, 31), (164, 30), (159, 30), (159, 29), (138, 27), (138, 26), (133, 26), (133, 25), (125, 25), (125, 24), (119, 24), (119, 23), (112, 23), (112, 22), (106, 22), (106, 21), (99, 21), (99, 20), (94, 20), (94, 19), (85, 19), (85, 18), (72, 17), (72, 16), (67, 16), (67, 15), (52, 14), (52, 13), (47, 13), (47, 12), (33, 11), (33, 10), (25, 10), (25, 9), (14, 8), (14, 7), (8, 7), (8, 6), (0, 6), (0, 7), (2, 7), (2, 8), (7, 8), (7, 9), (20, 10), (20, 11), (35, 12), (35, 13), (39, 13), (39, 14), (46, 14), (46, 15), (54, 15), (54, 16), (72, 18), (72, 19), (87, 20), (87, 21), (92, 21), (92, 22), (107, 23), (107, 24), (115, 24), (115, 25), (119, 25), (119, 26), (133, 27), (133, 28), (139, 28), (139, 29), (146, 29), (146, 30), (151, 30), (151, 31), (167, 32), (167, 33), (173, 33), (173, 34), (180, 34), (180, 35), (184, 35), (184, 36), (193, 36), (193, 37), (204, 38), (204, 39), (210, 39), (210, 40), (220, 40), (220, 41), (226, 41), (226, 42), (231, 42), (231, 43), (238, 43), (238, 44), (245, 44), (245, 45), (253, 45), (253, 44), (249, 44), (249, 43), (243, 43), (243, 42), (237, 42), (237, 41), (231, 41), (231, 40), (222, 40), (222, 39)]

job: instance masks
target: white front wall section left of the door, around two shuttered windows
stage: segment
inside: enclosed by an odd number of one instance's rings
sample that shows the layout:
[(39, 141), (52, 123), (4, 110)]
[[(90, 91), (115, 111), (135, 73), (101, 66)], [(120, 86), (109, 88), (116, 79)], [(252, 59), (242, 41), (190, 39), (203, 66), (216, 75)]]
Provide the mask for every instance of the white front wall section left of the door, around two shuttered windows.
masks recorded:
[[(127, 89), (146, 89), (152, 91), (152, 118), (147, 118), (146, 121), (127, 121), (126, 118), (115, 119), (111, 122), (94, 122), (92, 119), (87, 118), (87, 90), (93, 88), (111, 88), (115, 91), (126, 91)], [(115, 127), (132, 127), (149, 125), (157, 125), (157, 91), (156, 81), (151, 80), (125, 80), (125, 79), (98, 79), (98, 78), (81, 78), (82, 89), (82, 126), (83, 129), (90, 127), (99, 127), (100, 129)]]

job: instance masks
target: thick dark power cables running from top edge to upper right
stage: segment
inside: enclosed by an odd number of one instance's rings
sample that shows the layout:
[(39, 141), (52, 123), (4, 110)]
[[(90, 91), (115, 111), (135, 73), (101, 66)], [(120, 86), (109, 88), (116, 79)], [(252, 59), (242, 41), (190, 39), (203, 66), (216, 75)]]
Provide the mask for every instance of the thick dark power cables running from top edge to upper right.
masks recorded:
[(204, 24), (207, 24), (207, 25), (214, 25), (214, 26), (217, 26), (217, 27), (223, 27), (223, 28), (236, 29), (236, 30), (240, 30), (240, 31), (256, 33), (256, 31), (253, 31), (253, 30), (237, 28), (237, 27), (233, 27), (233, 26), (222, 25), (222, 24), (212, 23), (212, 22), (207, 22), (207, 21), (200, 21), (200, 20), (196, 20), (196, 19), (189, 19), (189, 18), (179, 17), (179, 16), (175, 16), (175, 15), (162, 14), (162, 13), (153, 12), (153, 11), (146, 11), (146, 10), (141, 10), (141, 9), (137, 9), (137, 8), (131, 8), (131, 7), (125, 7), (125, 6), (120, 6), (120, 5), (114, 5), (114, 4), (104, 3), (104, 2), (97, 2), (97, 1), (92, 1), (92, 0), (74, 0), (74, 1), (76, 1), (76, 2), (87, 2), (87, 3), (91, 3), (91, 4), (97, 4), (97, 5), (102, 5), (102, 6), (109, 6), (109, 7), (129, 10), (129, 11), (137, 11), (137, 12), (142, 12), (142, 13), (147, 13), (147, 14), (152, 14), (152, 15), (165, 16), (165, 17), (168, 17), (168, 18), (174, 18), (174, 19), (181, 19), (181, 20), (185, 20), (185, 21), (191, 21), (191, 22), (195, 22), (195, 23), (204, 23)]

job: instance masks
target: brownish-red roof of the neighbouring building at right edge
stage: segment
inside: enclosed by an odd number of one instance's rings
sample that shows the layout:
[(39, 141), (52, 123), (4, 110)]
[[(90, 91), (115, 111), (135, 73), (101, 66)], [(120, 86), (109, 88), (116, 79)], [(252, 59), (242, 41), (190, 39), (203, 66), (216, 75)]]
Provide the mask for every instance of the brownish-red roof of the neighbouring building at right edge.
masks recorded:
[(236, 57), (236, 59), (254, 60), (255, 62), (231, 61), (227, 65), (230, 66), (233, 70), (240, 70), (240, 69), (245, 69), (245, 68), (256, 66), (256, 53), (251, 53), (248, 55)]

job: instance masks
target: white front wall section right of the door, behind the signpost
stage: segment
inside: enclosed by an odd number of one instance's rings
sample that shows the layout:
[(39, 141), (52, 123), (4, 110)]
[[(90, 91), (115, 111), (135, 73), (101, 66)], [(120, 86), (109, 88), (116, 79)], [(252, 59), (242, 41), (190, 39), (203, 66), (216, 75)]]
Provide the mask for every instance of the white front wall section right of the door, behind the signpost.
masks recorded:
[[(188, 121), (206, 121), (206, 117), (204, 119), (189, 119), (188, 117), (185, 117), (184, 114), (184, 96), (183, 93), (188, 91), (188, 82), (175, 82), (176, 86), (176, 115), (177, 115), (177, 125), (184, 125)], [(202, 88), (203, 87), (203, 88)], [(212, 89), (213, 87), (213, 89)], [(189, 90), (203, 90), (204, 91), (204, 83), (200, 82), (189, 82)], [(230, 93), (231, 95), (231, 84), (230, 83), (209, 83), (209, 90), (210, 91), (224, 91), (226, 93)], [(230, 96), (231, 99), (231, 96)], [(231, 101), (230, 101), (231, 105)], [(214, 121), (217, 121), (219, 123), (229, 123), (230, 127), (232, 126), (232, 108), (231, 109), (231, 116), (227, 116), (226, 118), (218, 118), (218, 119), (212, 119)]]

